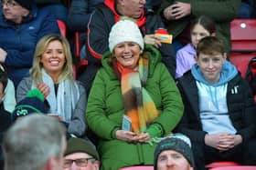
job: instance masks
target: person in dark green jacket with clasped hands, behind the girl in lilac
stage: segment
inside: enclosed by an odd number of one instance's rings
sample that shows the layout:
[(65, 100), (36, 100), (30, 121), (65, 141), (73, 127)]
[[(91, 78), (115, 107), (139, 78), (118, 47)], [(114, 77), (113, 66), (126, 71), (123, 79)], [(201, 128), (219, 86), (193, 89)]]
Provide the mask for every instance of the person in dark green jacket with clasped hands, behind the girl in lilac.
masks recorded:
[(225, 51), (230, 50), (230, 22), (237, 17), (240, 0), (163, 0), (161, 14), (168, 32), (174, 35), (176, 51), (189, 42), (190, 20), (206, 15), (216, 24), (217, 36)]

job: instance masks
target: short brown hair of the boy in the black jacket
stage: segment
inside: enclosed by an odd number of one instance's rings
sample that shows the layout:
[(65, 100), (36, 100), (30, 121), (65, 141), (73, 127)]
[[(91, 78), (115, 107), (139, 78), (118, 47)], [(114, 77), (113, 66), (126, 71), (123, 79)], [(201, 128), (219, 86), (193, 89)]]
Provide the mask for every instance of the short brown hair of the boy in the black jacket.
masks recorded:
[(216, 36), (206, 36), (197, 45), (197, 57), (200, 54), (216, 55), (224, 53), (224, 45)]

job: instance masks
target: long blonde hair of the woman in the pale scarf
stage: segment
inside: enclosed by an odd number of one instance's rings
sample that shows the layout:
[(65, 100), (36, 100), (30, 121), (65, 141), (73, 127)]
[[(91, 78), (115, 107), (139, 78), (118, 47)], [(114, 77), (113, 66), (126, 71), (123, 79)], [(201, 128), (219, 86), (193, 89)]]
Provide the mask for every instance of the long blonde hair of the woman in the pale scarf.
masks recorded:
[(35, 85), (42, 82), (42, 68), (43, 65), (40, 59), (45, 52), (49, 43), (53, 41), (59, 41), (63, 46), (64, 55), (66, 57), (66, 63), (63, 65), (62, 72), (58, 77), (58, 83), (60, 80), (69, 79), (73, 80), (73, 67), (72, 67), (72, 55), (70, 52), (69, 42), (66, 38), (60, 35), (45, 35), (38, 42), (34, 54), (33, 65), (29, 70), (32, 80)]

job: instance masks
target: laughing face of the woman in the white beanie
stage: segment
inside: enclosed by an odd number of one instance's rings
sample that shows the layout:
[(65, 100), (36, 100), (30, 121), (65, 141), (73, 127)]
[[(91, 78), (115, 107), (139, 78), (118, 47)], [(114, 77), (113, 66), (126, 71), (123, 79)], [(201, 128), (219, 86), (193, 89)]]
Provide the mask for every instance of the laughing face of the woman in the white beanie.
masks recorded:
[(137, 66), (142, 50), (136, 43), (123, 42), (114, 47), (113, 54), (121, 65), (133, 69)]

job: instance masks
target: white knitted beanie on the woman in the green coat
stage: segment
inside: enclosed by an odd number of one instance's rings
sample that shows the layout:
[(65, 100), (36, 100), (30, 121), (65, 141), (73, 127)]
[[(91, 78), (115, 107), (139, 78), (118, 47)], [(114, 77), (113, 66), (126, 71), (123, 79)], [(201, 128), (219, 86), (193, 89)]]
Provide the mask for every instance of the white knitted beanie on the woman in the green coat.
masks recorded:
[(109, 48), (112, 52), (115, 45), (123, 42), (134, 42), (144, 49), (144, 38), (141, 31), (132, 20), (120, 20), (112, 26), (109, 36)]

